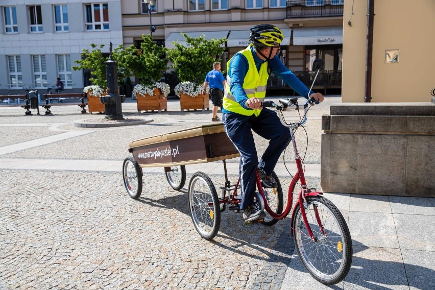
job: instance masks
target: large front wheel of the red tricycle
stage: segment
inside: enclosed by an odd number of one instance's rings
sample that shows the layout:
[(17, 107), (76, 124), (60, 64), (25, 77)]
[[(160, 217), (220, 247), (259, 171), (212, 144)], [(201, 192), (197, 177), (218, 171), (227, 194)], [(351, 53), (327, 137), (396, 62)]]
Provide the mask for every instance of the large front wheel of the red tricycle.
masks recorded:
[(324, 197), (307, 197), (305, 209), (312, 240), (299, 204), (293, 221), (295, 245), (308, 272), (325, 285), (342, 281), (352, 263), (352, 240), (341, 212)]

